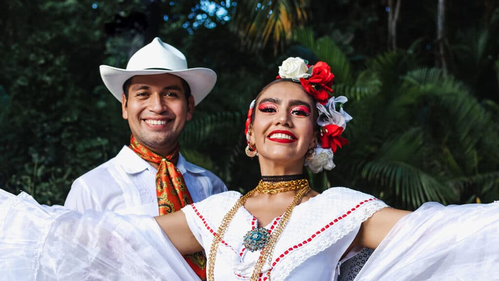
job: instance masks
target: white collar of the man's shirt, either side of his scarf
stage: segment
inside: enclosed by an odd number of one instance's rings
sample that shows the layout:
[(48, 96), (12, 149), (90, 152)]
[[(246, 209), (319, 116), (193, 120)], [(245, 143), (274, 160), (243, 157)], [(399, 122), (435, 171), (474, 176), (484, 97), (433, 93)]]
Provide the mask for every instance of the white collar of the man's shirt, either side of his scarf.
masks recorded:
[[(151, 164), (149, 164), (146, 160), (142, 159), (127, 145), (121, 148), (120, 152), (116, 155), (116, 159), (127, 173), (138, 173), (145, 169), (157, 171)], [(180, 153), (179, 155), (179, 161), (177, 162), (176, 167), (180, 170), (182, 174), (185, 173), (186, 171), (192, 173), (201, 173), (206, 171), (205, 169), (198, 167), (193, 163), (188, 162), (186, 158), (184, 158), (182, 153)]]

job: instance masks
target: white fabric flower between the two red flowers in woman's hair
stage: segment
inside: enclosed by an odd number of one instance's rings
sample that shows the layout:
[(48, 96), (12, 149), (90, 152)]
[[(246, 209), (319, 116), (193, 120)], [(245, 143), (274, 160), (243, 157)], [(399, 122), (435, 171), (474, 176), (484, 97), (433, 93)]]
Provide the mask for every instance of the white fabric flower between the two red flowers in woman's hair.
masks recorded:
[(336, 98), (334, 96), (329, 98), (329, 100), (325, 105), (322, 105), (319, 102), (317, 102), (316, 107), (317, 110), (319, 110), (319, 117), (317, 118), (317, 124), (319, 124), (319, 126), (335, 124), (345, 129), (346, 123), (352, 119), (352, 116), (350, 116), (347, 112), (345, 112), (345, 110), (343, 110), (343, 107), (341, 107), (340, 110), (337, 111), (336, 102), (343, 104), (347, 101), (348, 99), (346, 98), (346, 96), (341, 95)]

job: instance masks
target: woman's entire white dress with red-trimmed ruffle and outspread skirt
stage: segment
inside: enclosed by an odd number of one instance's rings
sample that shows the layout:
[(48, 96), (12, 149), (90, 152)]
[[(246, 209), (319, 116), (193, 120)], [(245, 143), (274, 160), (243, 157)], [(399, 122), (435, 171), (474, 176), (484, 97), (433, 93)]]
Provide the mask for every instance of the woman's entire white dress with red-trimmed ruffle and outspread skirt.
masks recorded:
[[(205, 249), (213, 227), (239, 196), (225, 192), (183, 209)], [(331, 188), (303, 202), (264, 270), (271, 269), (273, 281), (335, 280), (336, 263), (361, 221), (384, 206), (348, 188)], [(227, 245), (217, 254), (217, 281), (248, 280), (243, 275), (250, 274), (256, 260), (257, 252), (241, 245), (255, 219), (241, 209), (233, 222)], [(393, 227), (355, 280), (499, 280), (498, 233), (499, 203), (425, 203)], [(0, 265), (0, 281), (199, 281), (150, 216), (80, 213), (1, 189)]]

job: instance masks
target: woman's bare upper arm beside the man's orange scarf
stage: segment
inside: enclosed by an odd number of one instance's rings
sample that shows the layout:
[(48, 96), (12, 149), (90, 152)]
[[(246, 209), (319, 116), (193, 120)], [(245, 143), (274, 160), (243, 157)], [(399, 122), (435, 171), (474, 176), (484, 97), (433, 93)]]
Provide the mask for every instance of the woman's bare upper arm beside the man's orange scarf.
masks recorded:
[(181, 254), (184, 255), (203, 250), (203, 247), (189, 228), (183, 211), (155, 216), (154, 218)]

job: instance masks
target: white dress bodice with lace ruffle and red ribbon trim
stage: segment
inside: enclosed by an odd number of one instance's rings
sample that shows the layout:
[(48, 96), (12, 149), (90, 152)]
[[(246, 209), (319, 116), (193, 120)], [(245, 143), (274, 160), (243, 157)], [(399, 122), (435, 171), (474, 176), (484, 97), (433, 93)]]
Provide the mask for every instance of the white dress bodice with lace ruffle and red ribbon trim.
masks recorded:
[[(240, 197), (241, 193), (228, 191), (182, 209), (191, 231), (205, 249), (210, 249), (213, 233)], [(372, 195), (344, 187), (330, 188), (295, 206), (260, 279), (267, 279), (268, 270), (272, 281), (335, 279), (336, 265), (361, 222), (383, 207), (387, 205)], [(274, 218), (265, 228), (273, 231), (279, 219)], [(243, 236), (255, 227), (256, 218), (241, 207), (219, 246), (215, 279), (249, 279), (260, 251), (247, 250)]]

